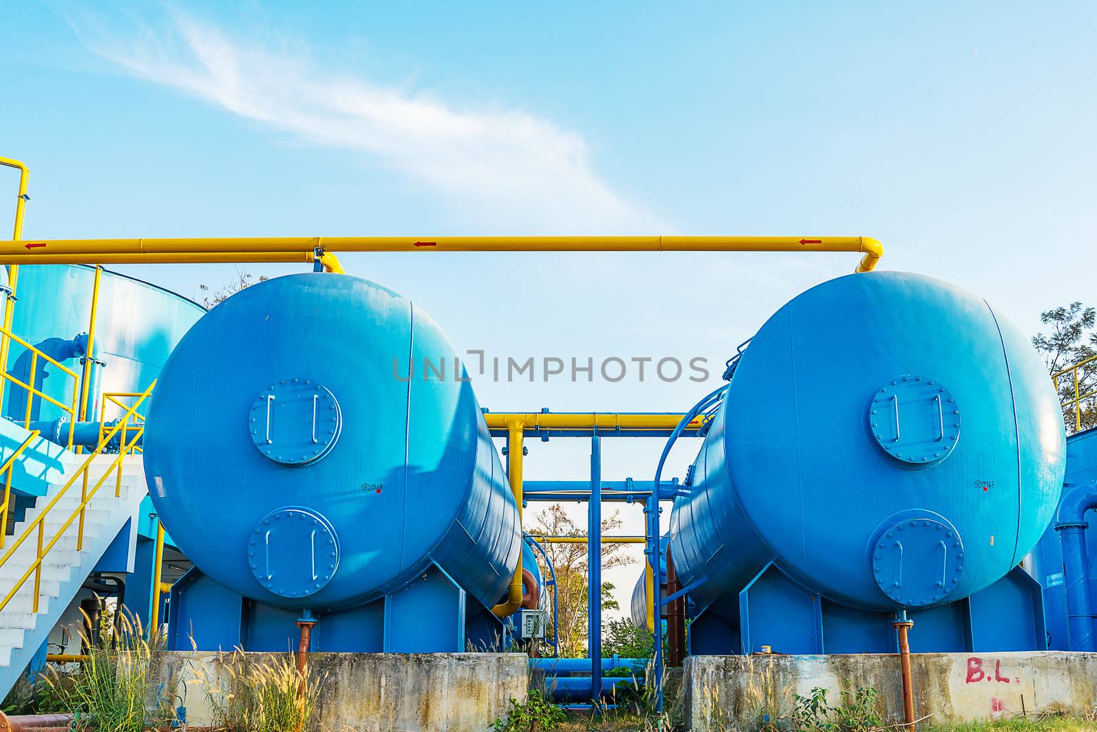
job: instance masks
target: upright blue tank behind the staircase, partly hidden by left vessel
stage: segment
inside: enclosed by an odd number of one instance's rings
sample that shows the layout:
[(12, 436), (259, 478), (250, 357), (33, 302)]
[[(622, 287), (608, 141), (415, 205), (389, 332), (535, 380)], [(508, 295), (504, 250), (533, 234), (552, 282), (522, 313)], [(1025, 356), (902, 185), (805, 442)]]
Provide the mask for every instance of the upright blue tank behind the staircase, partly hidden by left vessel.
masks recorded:
[[(94, 267), (83, 265), (20, 267), (12, 332), (82, 374), (94, 278)], [(93, 351), (105, 366), (95, 364), (91, 369), (88, 420), (98, 419), (104, 391), (144, 391), (159, 375), (174, 345), (204, 312), (205, 308), (185, 297), (104, 270)], [(7, 367), (23, 381), (30, 376), (30, 354), (14, 341), (8, 352)], [(71, 404), (72, 377), (41, 358), (35, 369), (35, 386), (63, 404)], [(33, 421), (67, 419), (64, 410), (38, 398), (31, 408)], [(26, 391), (8, 384), (3, 411), (7, 416), (23, 421)], [(121, 410), (109, 408), (106, 418), (120, 413)], [(67, 427), (59, 432), (67, 439)]]

